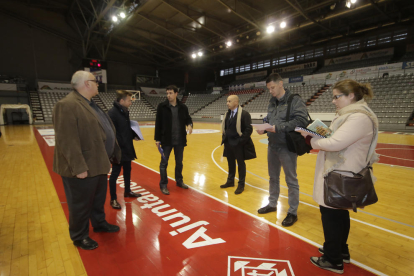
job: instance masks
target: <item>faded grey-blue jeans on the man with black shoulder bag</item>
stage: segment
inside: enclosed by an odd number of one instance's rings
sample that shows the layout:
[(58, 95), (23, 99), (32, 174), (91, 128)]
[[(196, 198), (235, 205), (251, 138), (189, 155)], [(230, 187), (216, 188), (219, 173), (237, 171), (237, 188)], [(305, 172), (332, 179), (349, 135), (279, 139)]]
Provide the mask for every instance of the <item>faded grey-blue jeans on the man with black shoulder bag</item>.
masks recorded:
[(280, 194), (280, 169), (283, 167), (285, 180), (288, 186), (288, 213), (297, 215), (299, 206), (299, 183), (296, 174), (298, 155), (290, 152), (286, 147), (267, 149), (269, 170), (269, 206), (276, 207)]

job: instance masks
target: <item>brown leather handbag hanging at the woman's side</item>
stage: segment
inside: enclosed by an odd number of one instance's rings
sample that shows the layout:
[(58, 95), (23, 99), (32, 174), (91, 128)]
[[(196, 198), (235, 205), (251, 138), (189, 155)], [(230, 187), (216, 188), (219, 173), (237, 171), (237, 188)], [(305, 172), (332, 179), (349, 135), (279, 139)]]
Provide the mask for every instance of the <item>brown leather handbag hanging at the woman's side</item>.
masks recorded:
[[(378, 201), (372, 182), (372, 167), (369, 164), (359, 173), (335, 170), (330, 172), (324, 181), (325, 205), (338, 209), (352, 209), (374, 204)], [(351, 173), (353, 176), (340, 174)]]

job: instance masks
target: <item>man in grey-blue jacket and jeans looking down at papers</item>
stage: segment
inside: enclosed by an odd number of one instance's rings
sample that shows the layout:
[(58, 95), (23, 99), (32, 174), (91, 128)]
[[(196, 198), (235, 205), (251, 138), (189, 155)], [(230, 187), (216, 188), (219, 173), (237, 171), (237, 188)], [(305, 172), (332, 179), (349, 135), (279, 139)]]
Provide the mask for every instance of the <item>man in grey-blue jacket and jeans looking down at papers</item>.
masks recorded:
[(257, 133), (267, 132), (269, 147), (267, 151), (269, 171), (269, 204), (258, 210), (259, 214), (275, 212), (280, 194), (280, 169), (283, 167), (285, 180), (288, 186), (289, 210), (283, 220), (283, 226), (292, 226), (297, 220), (299, 206), (299, 184), (296, 174), (298, 155), (290, 152), (286, 144), (286, 134), (295, 127), (306, 127), (308, 113), (306, 105), (300, 97), (294, 97), (289, 118), (286, 118), (287, 101), (291, 92), (283, 88), (282, 77), (273, 73), (266, 79), (266, 86), (272, 98), (269, 102), (267, 118), (271, 128), (266, 131), (258, 130)]

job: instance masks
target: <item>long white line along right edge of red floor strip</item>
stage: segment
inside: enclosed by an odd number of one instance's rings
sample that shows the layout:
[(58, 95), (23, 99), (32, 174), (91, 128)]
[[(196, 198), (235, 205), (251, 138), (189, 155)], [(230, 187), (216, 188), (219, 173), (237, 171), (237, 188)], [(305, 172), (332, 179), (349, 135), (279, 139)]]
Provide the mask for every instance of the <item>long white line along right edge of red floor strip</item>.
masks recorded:
[[(218, 148), (218, 147), (217, 147)], [(217, 148), (215, 148), (214, 150), (216, 150)], [(214, 159), (213, 159), (213, 161), (214, 161)], [(138, 162), (136, 162), (136, 161), (132, 161), (132, 162), (134, 162), (134, 163), (136, 163), (136, 164), (138, 164), (138, 165), (140, 165), (140, 166), (142, 166), (142, 167), (144, 167), (144, 168), (147, 168), (148, 170), (151, 170), (151, 171), (153, 171), (153, 172), (156, 172), (156, 173), (160, 173), (160, 172), (158, 172), (158, 171), (156, 171), (156, 170), (154, 170), (154, 169), (151, 169), (150, 167), (147, 167), (147, 166), (145, 166), (145, 165), (143, 165), (143, 164), (141, 164), (141, 163), (138, 163)], [(214, 161), (215, 162), (215, 161)], [(221, 168), (220, 166), (219, 166), (219, 168)], [(223, 169), (222, 169), (223, 170)], [(175, 179), (174, 178), (172, 178), (172, 177), (168, 177), (169, 179), (171, 179), (171, 180), (174, 180), (175, 181)], [(246, 183), (247, 184), (247, 183)], [(300, 239), (300, 240), (302, 240), (302, 241), (304, 241), (304, 242), (307, 242), (307, 243), (309, 243), (309, 244), (312, 244), (312, 245), (314, 245), (314, 246), (316, 246), (317, 248), (319, 248), (319, 247), (322, 247), (322, 245), (321, 244), (319, 244), (319, 243), (316, 243), (316, 242), (314, 242), (314, 241), (312, 241), (312, 240), (310, 240), (310, 239), (307, 239), (307, 238), (305, 238), (305, 237), (302, 237), (301, 235), (298, 235), (298, 234), (296, 234), (296, 233), (294, 233), (294, 232), (292, 232), (292, 231), (290, 231), (290, 230), (287, 230), (287, 229), (285, 229), (284, 227), (280, 227), (280, 226), (278, 226), (278, 225), (276, 225), (275, 223), (273, 223), (273, 222), (270, 222), (270, 221), (267, 221), (266, 219), (264, 219), (264, 218), (261, 218), (261, 217), (258, 217), (258, 216), (256, 216), (256, 215), (253, 215), (253, 214), (251, 214), (251, 213), (249, 213), (249, 212), (247, 212), (247, 211), (245, 211), (245, 210), (243, 210), (243, 209), (240, 209), (239, 207), (236, 207), (236, 206), (234, 206), (234, 205), (232, 205), (232, 204), (230, 204), (230, 203), (228, 203), (228, 202), (225, 202), (225, 201), (223, 201), (223, 200), (221, 200), (221, 199), (218, 199), (218, 198), (216, 198), (216, 197), (214, 197), (214, 196), (212, 196), (212, 195), (209, 195), (209, 194), (207, 194), (207, 193), (205, 193), (205, 192), (203, 192), (203, 191), (200, 191), (200, 190), (198, 190), (198, 189), (195, 189), (195, 188), (193, 188), (193, 187), (191, 187), (191, 186), (189, 186), (189, 188), (191, 188), (192, 190), (194, 190), (194, 191), (196, 191), (196, 192), (198, 192), (198, 193), (201, 193), (201, 194), (203, 194), (203, 195), (205, 195), (205, 196), (208, 196), (209, 198), (212, 198), (212, 199), (214, 199), (214, 200), (216, 200), (216, 201), (218, 201), (218, 202), (221, 202), (221, 203), (223, 203), (223, 204), (225, 204), (225, 205), (227, 205), (227, 206), (229, 206), (229, 207), (232, 207), (233, 209), (236, 209), (237, 211), (240, 211), (240, 212), (242, 212), (242, 213), (244, 213), (244, 214), (246, 214), (246, 215), (248, 215), (248, 216), (250, 216), (250, 217), (252, 217), (252, 218), (255, 218), (255, 219), (258, 219), (258, 220), (260, 220), (260, 221), (262, 221), (262, 222), (264, 222), (264, 223), (267, 223), (267, 224), (269, 224), (269, 225), (271, 225), (271, 226), (273, 226), (273, 227), (275, 227), (275, 228), (277, 228), (278, 230), (280, 230), (280, 231), (283, 231), (283, 232), (285, 232), (285, 233), (287, 233), (287, 234), (289, 234), (289, 235), (292, 235), (292, 236), (294, 236), (294, 237), (296, 237), (296, 238), (298, 238), (298, 239)], [(363, 269), (365, 269), (365, 270), (367, 270), (367, 271), (369, 271), (369, 272), (372, 272), (372, 273), (374, 273), (374, 274), (377, 274), (377, 275), (380, 275), (380, 276), (387, 276), (387, 274), (384, 274), (384, 273), (382, 273), (382, 272), (380, 272), (380, 271), (378, 271), (378, 270), (376, 270), (376, 269), (374, 269), (374, 268), (372, 268), (372, 267), (369, 267), (369, 266), (367, 266), (367, 265), (364, 265), (363, 263), (360, 263), (360, 262), (357, 262), (357, 261), (355, 261), (355, 260), (353, 260), (353, 259), (351, 259), (351, 263), (352, 264), (354, 264), (354, 265), (357, 265), (357, 266), (359, 266), (359, 267), (361, 267), (361, 268), (363, 268)]]

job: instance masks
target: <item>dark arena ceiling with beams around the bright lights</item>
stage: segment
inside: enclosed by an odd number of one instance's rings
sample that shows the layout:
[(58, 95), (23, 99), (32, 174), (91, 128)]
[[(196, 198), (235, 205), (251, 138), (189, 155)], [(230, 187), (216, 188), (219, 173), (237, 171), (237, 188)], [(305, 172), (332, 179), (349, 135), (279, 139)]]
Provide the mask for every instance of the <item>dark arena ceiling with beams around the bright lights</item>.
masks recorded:
[[(223, 67), (244, 59), (411, 26), (414, 0), (0, 0), (0, 13), (81, 45), (83, 57), (122, 53), (159, 69)], [(56, 13), (70, 27), (45, 25), (25, 9)], [(125, 19), (119, 17), (120, 12)], [(112, 17), (118, 15), (118, 22)], [(280, 22), (286, 28), (279, 27)], [(43, 24), (42, 24), (43, 23)], [(269, 24), (276, 30), (266, 32)], [(69, 34), (71, 33), (71, 34)], [(226, 42), (232, 41), (227, 47)], [(202, 57), (191, 55), (199, 51)]]

